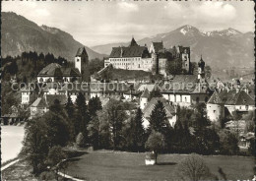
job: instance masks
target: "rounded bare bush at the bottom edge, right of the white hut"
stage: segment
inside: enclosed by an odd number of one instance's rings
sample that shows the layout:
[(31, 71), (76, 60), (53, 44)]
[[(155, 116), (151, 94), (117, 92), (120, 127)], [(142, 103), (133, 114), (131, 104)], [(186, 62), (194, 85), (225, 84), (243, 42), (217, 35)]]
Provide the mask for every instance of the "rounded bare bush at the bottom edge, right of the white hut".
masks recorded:
[(198, 154), (190, 154), (184, 158), (177, 166), (175, 171), (178, 180), (199, 181), (210, 180), (212, 174), (209, 167)]

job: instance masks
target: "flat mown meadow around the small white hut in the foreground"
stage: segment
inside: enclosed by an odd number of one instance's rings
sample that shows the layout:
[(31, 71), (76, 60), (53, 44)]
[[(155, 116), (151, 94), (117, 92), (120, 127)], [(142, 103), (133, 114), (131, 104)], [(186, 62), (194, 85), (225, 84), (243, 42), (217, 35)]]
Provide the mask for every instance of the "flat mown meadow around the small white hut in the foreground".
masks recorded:
[[(67, 174), (85, 180), (176, 180), (175, 169), (187, 155), (161, 154), (159, 165), (146, 166), (145, 153), (94, 151), (69, 162)], [(253, 157), (204, 156), (211, 171), (222, 167), (227, 179), (252, 179)]]

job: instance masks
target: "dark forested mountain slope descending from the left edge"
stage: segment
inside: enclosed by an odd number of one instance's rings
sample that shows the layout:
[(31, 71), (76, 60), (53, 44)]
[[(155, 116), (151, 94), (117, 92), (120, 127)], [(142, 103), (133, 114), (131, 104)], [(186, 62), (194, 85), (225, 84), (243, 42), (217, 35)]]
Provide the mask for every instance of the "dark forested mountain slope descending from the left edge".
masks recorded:
[[(24, 51), (52, 53), (73, 61), (79, 47), (84, 45), (63, 30), (38, 26), (23, 16), (12, 12), (1, 12), (1, 55), (17, 56)], [(90, 59), (105, 55), (86, 47)]]

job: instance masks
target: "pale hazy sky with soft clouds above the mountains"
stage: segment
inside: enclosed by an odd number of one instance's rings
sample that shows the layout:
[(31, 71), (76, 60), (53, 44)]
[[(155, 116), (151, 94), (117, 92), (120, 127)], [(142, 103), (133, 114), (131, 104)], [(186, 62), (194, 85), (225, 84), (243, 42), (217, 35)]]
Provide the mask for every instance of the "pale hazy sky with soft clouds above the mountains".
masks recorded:
[(254, 2), (2, 1), (2, 11), (71, 33), (85, 45), (130, 41), (191, 25), (254, 31)]

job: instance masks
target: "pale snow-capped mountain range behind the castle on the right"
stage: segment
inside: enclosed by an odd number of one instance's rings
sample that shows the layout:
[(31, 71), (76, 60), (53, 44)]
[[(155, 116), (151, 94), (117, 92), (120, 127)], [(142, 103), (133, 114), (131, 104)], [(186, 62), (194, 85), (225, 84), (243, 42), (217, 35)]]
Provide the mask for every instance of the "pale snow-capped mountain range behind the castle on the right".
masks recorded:
[[(190, 46), (191, 61), (197, 62), (203, 56), (207, 65), (215, 68), (253, 67), (254, 33), (238, 30), (202, 31), (186, 25), (176, 30), (160, 33), (138, 40), (138, 44), (149, 47), (152, 42), (161, 41), (164, 48), (182, 45)], [(129, 42), (111, 43), (91, 47), (96, 52), (110, 54), (112, 47), (127, 46)]]

